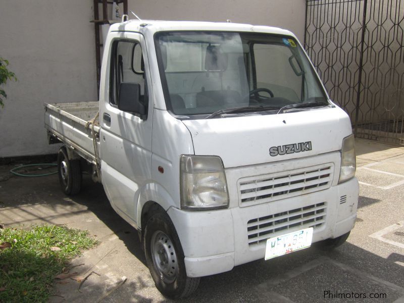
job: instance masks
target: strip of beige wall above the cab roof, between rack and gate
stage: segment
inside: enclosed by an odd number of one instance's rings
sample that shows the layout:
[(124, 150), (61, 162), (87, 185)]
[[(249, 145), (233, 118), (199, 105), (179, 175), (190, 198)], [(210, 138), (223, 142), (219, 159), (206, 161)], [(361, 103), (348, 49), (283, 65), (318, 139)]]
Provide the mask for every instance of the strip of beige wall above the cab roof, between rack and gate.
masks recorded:
[[(305, 0), (128, 0), (141, 19), (187, 20), (269, 25), (291, 30), (303, 41)], [(129, 18), (134, 16), (129, 13)]]

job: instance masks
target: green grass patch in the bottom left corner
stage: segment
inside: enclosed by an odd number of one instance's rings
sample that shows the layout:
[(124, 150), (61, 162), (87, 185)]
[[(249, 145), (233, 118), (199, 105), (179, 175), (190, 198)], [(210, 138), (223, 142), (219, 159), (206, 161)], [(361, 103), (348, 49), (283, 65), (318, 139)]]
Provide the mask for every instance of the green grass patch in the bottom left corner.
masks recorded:
[(12, 245), (0, 249), (0, 302), (46, 302), (68, 261), (97, 244), (87, 235), (57, 225), (0, 229), (0, 244)]

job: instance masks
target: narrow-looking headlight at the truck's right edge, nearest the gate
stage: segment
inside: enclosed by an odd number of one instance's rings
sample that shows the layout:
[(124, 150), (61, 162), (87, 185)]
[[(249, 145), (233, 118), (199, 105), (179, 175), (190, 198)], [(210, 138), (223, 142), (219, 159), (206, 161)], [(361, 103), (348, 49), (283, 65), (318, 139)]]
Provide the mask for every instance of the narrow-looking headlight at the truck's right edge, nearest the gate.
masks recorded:
[(342, 140), (341, 171), (338, 183), (354, 178), (357, 170), (357, 158), (355, 155), (355, 138), (349, 135)]

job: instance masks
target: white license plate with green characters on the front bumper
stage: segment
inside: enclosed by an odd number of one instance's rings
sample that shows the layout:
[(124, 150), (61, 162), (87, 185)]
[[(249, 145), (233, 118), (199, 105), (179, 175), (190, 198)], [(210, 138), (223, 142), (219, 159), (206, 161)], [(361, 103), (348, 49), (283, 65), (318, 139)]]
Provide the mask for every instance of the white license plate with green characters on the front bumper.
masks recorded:
[(313, 227), (290, 232), (267, 240), (265, 260), (289, 254), (292, 251), (310, 247)]

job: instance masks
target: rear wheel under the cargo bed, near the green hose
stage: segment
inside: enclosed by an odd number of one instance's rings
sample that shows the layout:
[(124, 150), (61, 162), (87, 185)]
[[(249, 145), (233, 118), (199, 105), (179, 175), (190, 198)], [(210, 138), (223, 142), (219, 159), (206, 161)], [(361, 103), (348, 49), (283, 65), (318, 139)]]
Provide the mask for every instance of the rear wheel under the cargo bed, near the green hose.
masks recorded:
[(75, 195), (81, 189), (80, 160), (69, 160), (66, 147), (59, 149), (58, 175), (62, 191), (67, 195)]

